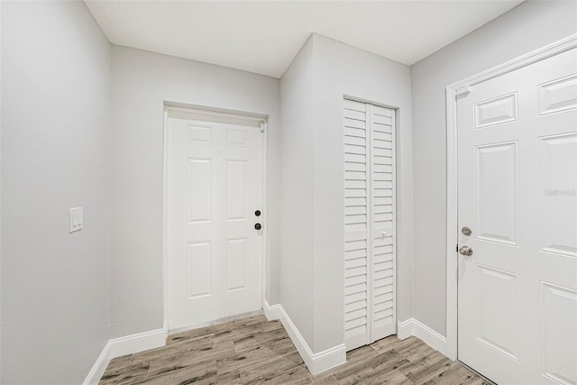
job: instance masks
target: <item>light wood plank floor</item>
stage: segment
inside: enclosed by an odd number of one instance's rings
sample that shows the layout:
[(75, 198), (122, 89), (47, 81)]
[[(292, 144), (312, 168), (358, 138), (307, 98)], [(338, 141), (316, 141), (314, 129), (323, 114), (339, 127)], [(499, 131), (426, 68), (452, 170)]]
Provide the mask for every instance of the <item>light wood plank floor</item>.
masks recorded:
[(105, 384), (487, 384), (421, 340), (392, 335), (311, 376), (279, 321), (253, 316), (169, 335), (158, 349), (114, 358)]

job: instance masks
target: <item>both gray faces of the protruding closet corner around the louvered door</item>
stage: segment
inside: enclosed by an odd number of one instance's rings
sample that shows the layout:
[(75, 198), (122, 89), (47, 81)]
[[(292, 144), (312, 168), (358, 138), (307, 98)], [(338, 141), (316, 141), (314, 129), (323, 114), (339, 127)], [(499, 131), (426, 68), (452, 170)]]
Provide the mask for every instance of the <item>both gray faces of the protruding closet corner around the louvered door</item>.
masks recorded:
[(400, 319), (410, 317), (412, 177), (407, 66), (312, 35), (280, 80), (280, 302), (313, 352), (343, 344), (343, 96), (399, 108)]

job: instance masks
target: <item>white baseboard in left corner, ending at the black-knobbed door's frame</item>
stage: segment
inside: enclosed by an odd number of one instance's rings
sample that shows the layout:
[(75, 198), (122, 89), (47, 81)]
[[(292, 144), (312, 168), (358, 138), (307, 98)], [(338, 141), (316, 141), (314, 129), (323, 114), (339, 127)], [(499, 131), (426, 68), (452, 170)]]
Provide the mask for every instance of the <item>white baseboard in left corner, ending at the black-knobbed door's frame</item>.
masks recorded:
[(150, 332), (137, 335), (126, 335), (108, 341), (102, 353), (96, 359), (92, 369), (88, 372), (83, 385), (97, 384), (106, 370), (106, 366), (114, 357), (126, 354), (139, 353), (144, 350), (154, 349), (166, 344), (166, 332), (164, 329), (151, 330)]

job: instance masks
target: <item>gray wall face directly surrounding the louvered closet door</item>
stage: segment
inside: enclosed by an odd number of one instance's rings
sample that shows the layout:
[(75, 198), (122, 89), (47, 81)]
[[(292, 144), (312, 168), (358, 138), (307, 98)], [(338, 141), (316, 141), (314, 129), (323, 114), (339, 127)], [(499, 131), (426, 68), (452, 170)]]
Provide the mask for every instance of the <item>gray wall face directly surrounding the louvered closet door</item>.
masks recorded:
[[(398, 108), (398, 319), (411, 314), (412, 143), (409, 68), (315, 38), (315, 352), (343, 344), (343, 96)], [(284, 130), (284, 127), (283, 127)], [(284, 176), (283, 176), (284, 177)]]

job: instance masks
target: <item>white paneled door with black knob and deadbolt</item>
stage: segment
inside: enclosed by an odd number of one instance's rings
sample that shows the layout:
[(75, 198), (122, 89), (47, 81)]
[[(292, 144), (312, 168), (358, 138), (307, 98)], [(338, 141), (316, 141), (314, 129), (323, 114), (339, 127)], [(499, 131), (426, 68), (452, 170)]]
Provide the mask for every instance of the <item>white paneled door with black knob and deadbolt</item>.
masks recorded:
[(261, 309), (262, 133), (169, 114), (169, 328)]

